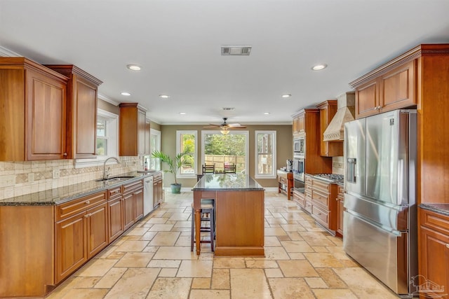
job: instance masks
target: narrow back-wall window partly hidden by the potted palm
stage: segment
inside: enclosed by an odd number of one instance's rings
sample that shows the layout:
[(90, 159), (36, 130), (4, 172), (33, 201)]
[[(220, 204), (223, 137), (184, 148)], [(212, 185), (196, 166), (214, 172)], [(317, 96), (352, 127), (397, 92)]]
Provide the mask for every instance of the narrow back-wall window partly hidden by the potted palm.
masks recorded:
[(196, 178), (196, 139), (196, 131), (176, 131), (176, 154), (189, 154), (184, 157), (187, 165), (180, 168), (180, 178)]

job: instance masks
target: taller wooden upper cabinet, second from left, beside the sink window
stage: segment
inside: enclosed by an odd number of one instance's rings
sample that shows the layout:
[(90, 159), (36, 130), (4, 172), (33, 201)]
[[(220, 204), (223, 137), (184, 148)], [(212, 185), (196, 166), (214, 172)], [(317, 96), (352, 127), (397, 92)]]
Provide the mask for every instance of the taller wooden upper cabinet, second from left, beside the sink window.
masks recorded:
[(95, 158), (98, 85), (102, 81), (73, 64), (46, 67), (69, 78), (67, 83), (67, 158)]

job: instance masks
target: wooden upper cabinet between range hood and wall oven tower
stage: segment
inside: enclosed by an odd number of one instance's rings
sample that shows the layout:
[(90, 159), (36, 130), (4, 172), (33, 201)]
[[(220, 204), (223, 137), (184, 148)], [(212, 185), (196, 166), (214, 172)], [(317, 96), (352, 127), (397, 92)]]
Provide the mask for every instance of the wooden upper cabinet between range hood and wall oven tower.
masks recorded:
[(343, 155), (343, 141), (323, 141), (323, 133), (337, 113), (337, 100), (328, 99), (316, 105), (320, 109), (320, 153), (324, 157)]

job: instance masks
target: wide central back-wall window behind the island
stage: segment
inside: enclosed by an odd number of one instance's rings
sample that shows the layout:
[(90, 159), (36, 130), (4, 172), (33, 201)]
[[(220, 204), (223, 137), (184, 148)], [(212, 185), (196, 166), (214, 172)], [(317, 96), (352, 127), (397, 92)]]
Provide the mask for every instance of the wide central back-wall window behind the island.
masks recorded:
[(215, 172), (223, 172), (225, 165), (236, 165), (236, 173), (248, 173), (248, 131), (201, 131), (203, 165), (215, 164)]

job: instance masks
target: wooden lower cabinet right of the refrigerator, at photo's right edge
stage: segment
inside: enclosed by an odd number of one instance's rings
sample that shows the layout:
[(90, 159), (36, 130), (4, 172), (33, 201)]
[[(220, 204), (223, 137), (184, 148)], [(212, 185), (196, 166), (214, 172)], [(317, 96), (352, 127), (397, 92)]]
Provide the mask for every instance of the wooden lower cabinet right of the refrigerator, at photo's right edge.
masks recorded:
[[(448, 299), (449, 291), (449, 216), (419, 209), (420, 214), (420, 285), (433, 288), (434, 293), (421, 290), (426, 295), (444, 294), (438, 298)], [(438, 288), (444, 288), (438, 292)], [(436, 298), (436, 297), (432, 297)]]

